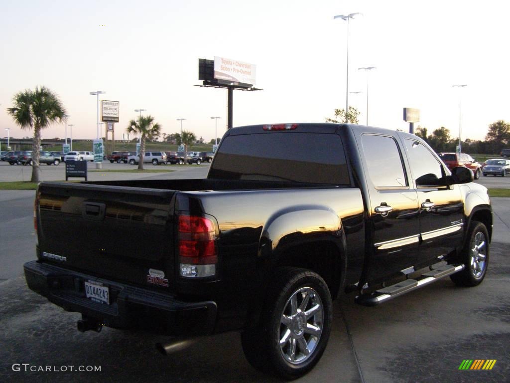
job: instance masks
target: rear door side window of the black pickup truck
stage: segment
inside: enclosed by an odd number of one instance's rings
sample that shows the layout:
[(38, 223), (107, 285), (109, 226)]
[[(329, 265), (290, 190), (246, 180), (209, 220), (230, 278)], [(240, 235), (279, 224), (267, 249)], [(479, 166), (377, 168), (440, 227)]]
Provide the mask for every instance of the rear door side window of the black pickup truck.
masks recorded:
[(363, 155), (370, 180), (375, 187), (402, 187), (407, 181), (397, 142), (392, 137), (365, 134)]

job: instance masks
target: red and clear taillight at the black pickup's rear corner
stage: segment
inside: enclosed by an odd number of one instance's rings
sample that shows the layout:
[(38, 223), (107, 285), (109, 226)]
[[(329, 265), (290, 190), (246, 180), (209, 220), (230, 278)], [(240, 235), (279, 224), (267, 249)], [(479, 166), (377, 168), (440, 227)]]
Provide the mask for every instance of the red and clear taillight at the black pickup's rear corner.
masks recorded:
[(215, 240), (213, 221), (205, 217), (179, 216), (181, 276), (215, 275), (218, 262)]

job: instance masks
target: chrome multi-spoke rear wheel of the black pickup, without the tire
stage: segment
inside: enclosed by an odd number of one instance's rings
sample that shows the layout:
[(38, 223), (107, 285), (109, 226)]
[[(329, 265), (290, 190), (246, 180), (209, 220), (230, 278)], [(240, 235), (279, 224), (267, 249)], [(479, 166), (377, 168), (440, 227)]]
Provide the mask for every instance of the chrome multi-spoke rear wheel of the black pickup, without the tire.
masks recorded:
[(315, 351), (322, 333), (324, 309), (312, 288), (297, 290), (285, 304), (277, 334), (280, 353), (289, 363), (306, 361)]

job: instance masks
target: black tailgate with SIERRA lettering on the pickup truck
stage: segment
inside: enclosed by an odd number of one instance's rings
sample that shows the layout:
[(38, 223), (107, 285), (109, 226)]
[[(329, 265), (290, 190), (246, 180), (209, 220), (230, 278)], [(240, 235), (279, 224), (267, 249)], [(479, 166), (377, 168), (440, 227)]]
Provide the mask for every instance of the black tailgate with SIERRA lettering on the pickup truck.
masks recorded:
[[(112, 280), (174, 279), (176, 190), (43, 182), (37, 192), (37, 256)], [(169, 283), (170, 289), (173, 283)]]

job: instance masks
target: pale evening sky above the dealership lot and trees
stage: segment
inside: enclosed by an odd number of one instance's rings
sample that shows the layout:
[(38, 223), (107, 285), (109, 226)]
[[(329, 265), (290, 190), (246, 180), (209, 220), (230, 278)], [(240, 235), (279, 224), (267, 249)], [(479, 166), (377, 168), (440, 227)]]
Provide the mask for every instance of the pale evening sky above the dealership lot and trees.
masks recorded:
[[(256, 87), (234, 91), (234, 126), (324, 122), (345, 108), (347, 23), (349, 104), (369, 124), (409, 129), (402, 108), (421, 111), (429, 133), (445, 126), (483, 139), (488, 125), (510, 121), (508, 11), (504, 1), (6, 1), (0, 2), (0, 135), (32, 136), (7, 114), (13, 95), (44, 85), (74, 124), (73, 138), (95, 138), (96, 98), (120, 102), (115, 138), (134, 109), (146, 109), (163, 132), (183, 128), (206, 141), (226, 129), (225, 89), (195, 87), (198, 59), (214, 56), (257, 65)], [(100, 26), (105, 25), (105, 26)], [(452, 88), (467, 84), (465, 88)], [(64, 125), (43, 130), (63, 138)], [(69, 130), (68, 130), (69, 135)]]

